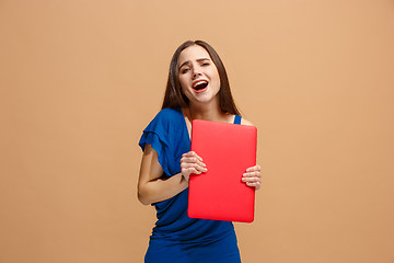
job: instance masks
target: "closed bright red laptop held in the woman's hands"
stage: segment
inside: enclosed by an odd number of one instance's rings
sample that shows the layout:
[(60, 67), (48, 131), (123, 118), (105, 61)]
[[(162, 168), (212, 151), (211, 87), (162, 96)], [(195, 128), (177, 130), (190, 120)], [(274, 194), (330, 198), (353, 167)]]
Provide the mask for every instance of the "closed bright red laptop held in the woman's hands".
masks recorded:
[(242, 174), (256, 164), (257, 129), (253, 126), (195, 119), (192, 150), (208, 171), (190, 174), (190, 218), (252, 222), (255, 190)]

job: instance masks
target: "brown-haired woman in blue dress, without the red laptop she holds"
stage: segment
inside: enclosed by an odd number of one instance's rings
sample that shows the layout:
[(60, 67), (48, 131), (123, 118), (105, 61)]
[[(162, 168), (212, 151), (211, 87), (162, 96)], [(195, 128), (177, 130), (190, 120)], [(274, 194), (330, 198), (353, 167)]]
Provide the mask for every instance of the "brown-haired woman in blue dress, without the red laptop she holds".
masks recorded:
[[(205, 42), (188, 41), (171, 60), (162, 111), (139, 141), (138, 198), (158, 213), (146, 262), (241, 262), (232, 222), (187, 217), (189, 175), (209, 169), (190, 151), (196, 118), (252, 125), (240, 117), (219, 55)], [(259, 188), (259, 165), (240, 176), (248, 187)]]

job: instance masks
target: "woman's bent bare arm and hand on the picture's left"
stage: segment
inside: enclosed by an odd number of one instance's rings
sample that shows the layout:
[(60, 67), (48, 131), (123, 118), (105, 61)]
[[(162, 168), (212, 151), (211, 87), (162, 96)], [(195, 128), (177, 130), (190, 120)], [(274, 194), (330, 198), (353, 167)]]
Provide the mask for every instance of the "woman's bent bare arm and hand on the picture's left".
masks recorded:
[(163, 169), (158, 160), (158, 152), (146, 145), (138, 180), (138, 199), (143, 205), (169, 199), (188, 186), (190, 173), (201, 173), (204, 163), (194, 152), (187, 152), (181, 159), (182, 173), (162, 179)]

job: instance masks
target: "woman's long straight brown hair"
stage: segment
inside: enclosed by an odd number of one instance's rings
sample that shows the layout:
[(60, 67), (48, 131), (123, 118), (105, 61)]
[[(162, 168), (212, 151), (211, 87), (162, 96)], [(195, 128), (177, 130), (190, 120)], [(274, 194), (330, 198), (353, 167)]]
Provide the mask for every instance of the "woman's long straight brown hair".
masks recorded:
[(189, 100), (181, 92), (181, 83), (178, 79), (179, 76), (178, 59), (181, 53), (184, 49), (194, 45), (204, 47), (208, 52), (216, 67), (218, 68), (219, 78), (220, 78), (220, 90), (219, 90), (220, 110), (223, 113), (241, 115), (231, 95), (229, 78), (227, 76), (224, 65), (221, 61), (218, 53), (213, 49), (213, 47), (211, 47), (208, 43), (204, 41), (195, 41), (195, 42), (187, 41), (175, 50), (170, 64), (169, 80), (165, 89), (162, 108), (165, 107), (176, 108), (176, 107), (188, 106)]

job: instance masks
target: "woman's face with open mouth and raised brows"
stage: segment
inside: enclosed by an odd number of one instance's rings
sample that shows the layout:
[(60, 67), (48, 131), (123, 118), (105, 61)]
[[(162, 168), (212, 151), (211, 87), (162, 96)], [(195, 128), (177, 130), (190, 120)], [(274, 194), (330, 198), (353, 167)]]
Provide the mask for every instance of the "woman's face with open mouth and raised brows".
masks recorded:
[(179, 54), (179, 82), (190, 103), (218, 100), (220, 77), (208, 52), (198, 45), (189, 46)]

